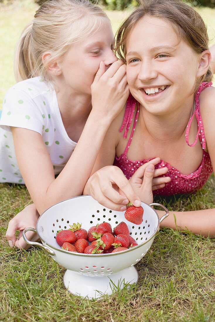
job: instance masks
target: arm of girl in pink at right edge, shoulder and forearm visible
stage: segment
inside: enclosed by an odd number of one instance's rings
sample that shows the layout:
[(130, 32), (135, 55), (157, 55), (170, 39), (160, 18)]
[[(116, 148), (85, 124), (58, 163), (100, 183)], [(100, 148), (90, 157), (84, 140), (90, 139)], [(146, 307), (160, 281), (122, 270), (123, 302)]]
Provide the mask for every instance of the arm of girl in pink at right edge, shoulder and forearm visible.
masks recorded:
[[(207, 151), (210, 154), (213, 172), (215, 171), (215, 88), (210, 87), (200, 94), (200, 109), (203, 119)], [(158, 211), (161, 217), (164, 212)], [(174, 215), (176, 217), (176, 224)], [(169, 216), (161, 223), (161, 227), (172, 229), (191, 230), (194, 234), (215, 237), (215, 208), (196, 211), (171, 211)]]

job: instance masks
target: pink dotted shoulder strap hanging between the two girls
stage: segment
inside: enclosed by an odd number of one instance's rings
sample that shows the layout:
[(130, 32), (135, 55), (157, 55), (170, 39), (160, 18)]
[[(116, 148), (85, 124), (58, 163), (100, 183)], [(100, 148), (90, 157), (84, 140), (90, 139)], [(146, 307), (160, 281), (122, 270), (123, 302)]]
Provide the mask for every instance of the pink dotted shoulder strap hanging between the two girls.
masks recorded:
[[(122, 132), (123, 128), (125, 127), (125, 132), (124, 132), (124, 135), (123, 135), (124, 138), (126, 138), (127, 135), (128, 135), (128, 130), (130, 129), (130, 125), (131, 125), (132, 120), (133, 120), (133, 115), (134, 115), (134, 111), (135, 111), (136, 102), (137, 101), (136, 101), (136, 99), (133, 98), (132, 94), (129, 94), (129, 97), (128, 97), (128, 100), (127, 100), (127, 105), (126, 105), (126, 108), (125, 108), (124, 118), (123, 118), (123, 121), (122, 121), (122, 126), (120, 128), (120, 132)], [(133, 137), (133, 133), (134, 133), (136, 122), (137, 122), (138, 115), (139, 115), (140, 103), (139, 102), (137, 102), (137, 103), (138, 103), (138, 109), (137, 109), (137, 112), (135, 114), (132, 133), (131, 133), (131, 136), (129, 137), (127, 146), (126, 146), (125, 151), (124, 151), (125, 155), (127, 154), (128, 149), (130, 147), (130, 143), (131, 143), (131, 140), (132, 140), (132, 137)]]

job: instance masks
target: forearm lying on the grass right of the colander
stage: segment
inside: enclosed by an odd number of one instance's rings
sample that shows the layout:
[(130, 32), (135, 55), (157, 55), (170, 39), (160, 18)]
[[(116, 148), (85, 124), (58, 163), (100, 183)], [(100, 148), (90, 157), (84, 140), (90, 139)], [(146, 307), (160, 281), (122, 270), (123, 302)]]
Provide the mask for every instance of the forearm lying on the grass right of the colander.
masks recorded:
[[(159, 217), (164, 215), (163, 211), (157, 211)], [(176, 221), (175, 221), (175, 218)], [(170, 211), (169, 216), (162, 221), (162, 228), (174, 230), (191, 230), (194, 234), (211, 238), (215, 237), (215, 209), (197, 211)]]

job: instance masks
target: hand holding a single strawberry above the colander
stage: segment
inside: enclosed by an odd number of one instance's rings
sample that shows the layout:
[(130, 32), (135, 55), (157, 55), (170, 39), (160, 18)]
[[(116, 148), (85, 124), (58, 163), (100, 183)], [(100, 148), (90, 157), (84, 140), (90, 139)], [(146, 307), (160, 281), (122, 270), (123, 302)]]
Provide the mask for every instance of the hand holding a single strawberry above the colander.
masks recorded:
[(100, 204), (116, 211), (125, 211), (129, 201), (137, 207), (141, 205), (140, 198), (117, 166), (105, 166), (95, 172), (88, 179), (84, 194), (91, 194)]

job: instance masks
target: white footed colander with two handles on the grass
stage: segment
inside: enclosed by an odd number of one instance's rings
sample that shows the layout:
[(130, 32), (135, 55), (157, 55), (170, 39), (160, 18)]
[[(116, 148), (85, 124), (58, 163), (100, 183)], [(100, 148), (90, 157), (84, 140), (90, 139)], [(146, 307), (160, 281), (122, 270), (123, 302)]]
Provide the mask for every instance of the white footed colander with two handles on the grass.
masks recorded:
[[(151, 207), (160, 206), (165, 215), (159, 220), (156, 211)], [(91, 196), (79, 196), (64, 200), (47, 209), (38, 219), (36, 230), (26, 228), (23, 238), (26, 243), (43, 248), (51, 257), (67, 270), (64, 274), (64, 286), (71, 293), (88, 298), (99, 298), (102, 294), (111, 294), (115, 286), (136, 283), (138, 272), (133, 267), (150, 249), (160, 223), (169, 212), (161, 204), (145, 204), (143, 221), (135, 225), (127, 221), (124, 212), (105, 208)], [(61, 249), (55, 241), (59, 229), (69, 229), (69, 225), (79, 222), (88, 230), (97, 223), (108, 222), (112, 229), (124, 221), (137, 246), (123, 252), (110, 254), (81, 254)], [(37, 232), (42, 241), (31, 242), (26, 238), (27, 231)]]

